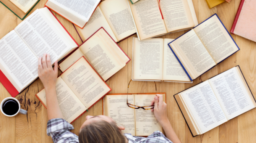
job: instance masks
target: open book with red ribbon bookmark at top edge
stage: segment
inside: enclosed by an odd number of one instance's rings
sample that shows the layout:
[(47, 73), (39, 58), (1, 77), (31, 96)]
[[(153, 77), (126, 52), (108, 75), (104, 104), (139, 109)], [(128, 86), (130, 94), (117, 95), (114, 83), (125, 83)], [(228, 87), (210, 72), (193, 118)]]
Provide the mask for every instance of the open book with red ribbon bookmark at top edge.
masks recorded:
[(134, 4), (128, 0), (128, 3), (139, 40), (198, 25), (192, 0), (160, 0), (160, 3), (158, 0), (140, 0)]

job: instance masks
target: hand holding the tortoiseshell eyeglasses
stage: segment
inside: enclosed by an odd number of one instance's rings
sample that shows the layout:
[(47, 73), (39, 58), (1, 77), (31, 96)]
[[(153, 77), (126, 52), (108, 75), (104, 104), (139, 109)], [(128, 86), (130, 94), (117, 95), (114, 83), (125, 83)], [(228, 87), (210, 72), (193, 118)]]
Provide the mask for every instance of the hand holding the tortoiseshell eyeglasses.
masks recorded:
[(167, 104), (164, 102), (163, 95), (157, 94), (151, 102), (151, 105), (154, 104), (154, 109), (151, 109), (151, 111), (154, 112), (156, 119), (160, 123), (169, 121), (167, 118)]

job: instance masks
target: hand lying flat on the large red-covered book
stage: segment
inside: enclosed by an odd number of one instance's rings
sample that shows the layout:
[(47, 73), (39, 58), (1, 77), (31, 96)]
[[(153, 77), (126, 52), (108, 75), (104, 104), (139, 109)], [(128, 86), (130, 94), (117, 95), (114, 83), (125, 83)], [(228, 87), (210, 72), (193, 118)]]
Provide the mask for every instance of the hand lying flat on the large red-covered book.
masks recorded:
[(58, 76), (58, 63), (55, 61), (54, 69), (52, 68), (50, 55), (44, 54), (38, 60), (38, 76), (44, 84), (44, 88), (54, 87)]

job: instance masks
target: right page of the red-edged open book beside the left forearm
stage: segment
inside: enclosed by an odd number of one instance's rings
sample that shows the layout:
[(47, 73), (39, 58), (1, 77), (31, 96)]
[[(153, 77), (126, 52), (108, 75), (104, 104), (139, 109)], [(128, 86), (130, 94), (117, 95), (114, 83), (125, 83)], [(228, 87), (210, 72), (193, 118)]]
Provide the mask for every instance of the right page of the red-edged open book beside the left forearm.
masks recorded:
[(84, 57), (63, 72), (61, 77), (86, 108), (111, 90)]

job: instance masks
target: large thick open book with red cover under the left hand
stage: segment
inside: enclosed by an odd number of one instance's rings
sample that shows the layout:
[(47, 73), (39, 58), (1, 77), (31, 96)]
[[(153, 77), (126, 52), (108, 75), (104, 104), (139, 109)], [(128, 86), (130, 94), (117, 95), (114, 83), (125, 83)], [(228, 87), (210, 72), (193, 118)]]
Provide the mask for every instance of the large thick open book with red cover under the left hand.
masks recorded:
[(0, 82), (11, 96), (37, 79), (38, 58), (60, 61), (78, 44), (48, 8), (34, 11), (0, 40)]

